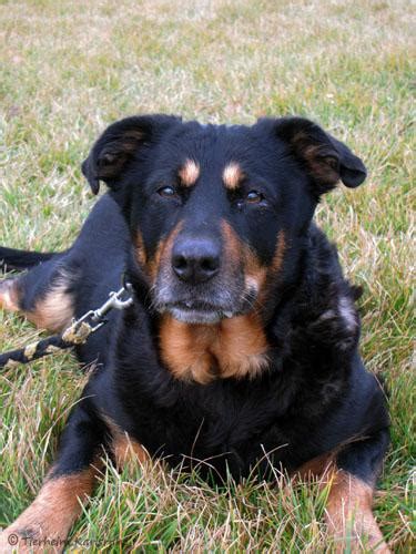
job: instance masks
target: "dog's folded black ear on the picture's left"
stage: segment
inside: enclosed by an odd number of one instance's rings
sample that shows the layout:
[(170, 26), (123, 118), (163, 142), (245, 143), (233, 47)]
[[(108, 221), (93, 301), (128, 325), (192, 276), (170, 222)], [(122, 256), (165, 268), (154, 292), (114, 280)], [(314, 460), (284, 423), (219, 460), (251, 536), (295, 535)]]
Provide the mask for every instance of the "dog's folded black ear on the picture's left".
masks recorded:
[(138, 115), (110, 125), (81, 166), (92, 192), (98, 194), (100, 181), (114, 186), (139, 148), (158, 142), (169, 127), (180, 121), (173, 115)]

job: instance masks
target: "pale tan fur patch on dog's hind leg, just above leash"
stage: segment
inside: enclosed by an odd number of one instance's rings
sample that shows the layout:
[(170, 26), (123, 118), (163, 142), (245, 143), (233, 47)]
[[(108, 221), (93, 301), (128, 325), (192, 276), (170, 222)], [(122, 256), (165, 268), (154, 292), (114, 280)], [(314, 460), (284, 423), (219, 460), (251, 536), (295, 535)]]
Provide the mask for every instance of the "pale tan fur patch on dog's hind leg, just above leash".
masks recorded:
[(68, 327), (74, 315), (73, 298), (68, 293), (70, 283), (71, 277), (61, 271), (45, 296), (35, 302), (34, 309), (24, 312), (29, 321), (53, 332)]

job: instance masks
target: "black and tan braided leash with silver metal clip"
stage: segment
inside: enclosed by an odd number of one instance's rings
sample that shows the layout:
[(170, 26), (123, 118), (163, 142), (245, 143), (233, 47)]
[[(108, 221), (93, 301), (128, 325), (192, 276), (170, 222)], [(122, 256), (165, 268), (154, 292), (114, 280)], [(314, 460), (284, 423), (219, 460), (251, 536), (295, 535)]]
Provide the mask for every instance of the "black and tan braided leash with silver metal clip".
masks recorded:
[(0, 368), (14, 368), (20, 363), (28, 363), (50, 353), (83, 345), (91, 334), (106, 324), (105, 315), (110, 310), (123, 310), (133, 304), (131, 289), (131, 284), (124, 283), (120, 290), (110, 293), (110, 298), (100, 308), (87, 311), (79, 319), (72, 320), (71, 325), (62, 334), (53, 335), (18, 350), (10, 350), (0, 355)]

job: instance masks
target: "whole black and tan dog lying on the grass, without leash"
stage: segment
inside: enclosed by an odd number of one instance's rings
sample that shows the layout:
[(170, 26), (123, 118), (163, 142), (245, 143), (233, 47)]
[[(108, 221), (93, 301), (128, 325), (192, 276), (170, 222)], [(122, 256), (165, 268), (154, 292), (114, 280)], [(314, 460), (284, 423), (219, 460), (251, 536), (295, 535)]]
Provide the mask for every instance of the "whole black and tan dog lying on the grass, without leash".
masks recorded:
[[(387, 546), (372, 497), (388, 445), (377, 380), (362, 363), (355, 289), (312, 222), (322, 194), (366, 170), (300, 117), (215, 126), (129, 117), (98, 140), (82, 171), (93, 208), (60, 254), (0, 249), (30, 271), (0, 304), (57, 331), (97, 308), (125, 270), (134, 304), (78, 349), (98, 360), (34, 502), (3, 532), (64, 541), (106, 451), (197, 461), (222, 480), (253, 468), (326, 473), (326, 514), (343, 543)], [(366, 538), (363, 538), (366, 537)]]

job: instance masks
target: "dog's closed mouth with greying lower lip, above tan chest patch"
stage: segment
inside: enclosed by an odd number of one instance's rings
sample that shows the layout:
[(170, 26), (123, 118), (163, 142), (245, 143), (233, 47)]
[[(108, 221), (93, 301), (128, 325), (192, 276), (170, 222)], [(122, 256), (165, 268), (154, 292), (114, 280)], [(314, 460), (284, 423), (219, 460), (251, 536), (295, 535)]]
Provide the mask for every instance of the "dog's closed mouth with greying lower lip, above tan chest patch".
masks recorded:
[(161, 314), (170, 314), (173, 318), (191, 325), (214, 325), (222, 319), (232, 318), (239, 312), (233, 309), (199, 300), (169, 302), (158, 307)]

